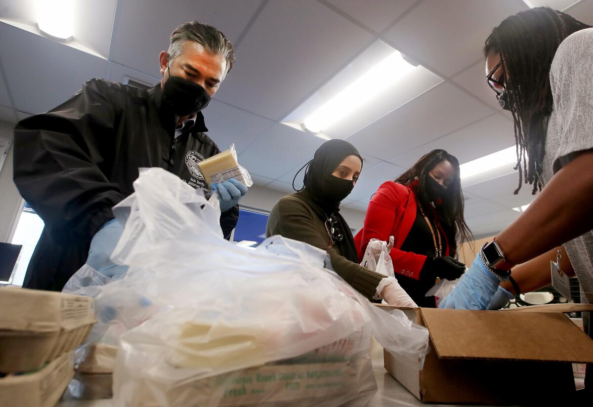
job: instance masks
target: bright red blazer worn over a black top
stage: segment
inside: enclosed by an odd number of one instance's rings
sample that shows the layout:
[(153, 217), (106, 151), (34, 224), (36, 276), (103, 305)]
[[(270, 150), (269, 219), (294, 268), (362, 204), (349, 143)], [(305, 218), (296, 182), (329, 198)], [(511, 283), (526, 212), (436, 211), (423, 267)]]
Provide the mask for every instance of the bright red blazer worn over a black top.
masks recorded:
[[(384, 182), (369, 202), (364, 226), (354, 236), (358, 261), (362, 261), (371, 239), (388, 242), (389, 236), (393, 236), (395, 242), (390, 257), (396, 274), (418, 280), (426, 256), (400, 250), (416, 219), (416, 209), (416, 196), (409, 187), (393, 181)], [(437, 223), (441, 236), (445, 236), (441, 224)], [(444, 255), (448, 256), (446, 236), (444, 243)]]

